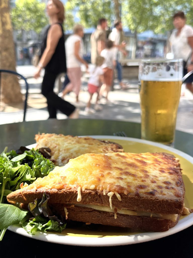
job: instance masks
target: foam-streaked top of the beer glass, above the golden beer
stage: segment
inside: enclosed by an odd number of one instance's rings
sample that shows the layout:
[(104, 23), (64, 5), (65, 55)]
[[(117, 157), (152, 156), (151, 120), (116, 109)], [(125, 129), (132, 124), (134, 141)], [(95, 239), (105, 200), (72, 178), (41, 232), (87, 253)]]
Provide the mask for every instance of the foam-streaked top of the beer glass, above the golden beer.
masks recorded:
[(144, 81), (172, 82), (182, 80), (182, 59), (142, 60), (139, 78)]

